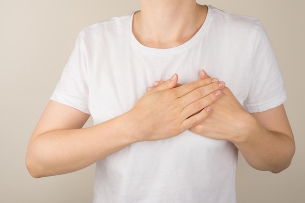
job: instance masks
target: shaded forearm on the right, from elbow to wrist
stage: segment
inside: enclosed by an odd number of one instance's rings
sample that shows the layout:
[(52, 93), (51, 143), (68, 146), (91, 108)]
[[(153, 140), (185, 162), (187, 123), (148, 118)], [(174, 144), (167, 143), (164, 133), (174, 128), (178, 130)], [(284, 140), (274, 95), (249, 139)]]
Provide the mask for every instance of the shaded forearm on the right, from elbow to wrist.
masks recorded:
[(248, 164), (274, 173), (286, 169), (295, 152), (294, 140), (288, 135), (268, 131), (255, 118), (248, 124), (250, 133), (234, 142)]

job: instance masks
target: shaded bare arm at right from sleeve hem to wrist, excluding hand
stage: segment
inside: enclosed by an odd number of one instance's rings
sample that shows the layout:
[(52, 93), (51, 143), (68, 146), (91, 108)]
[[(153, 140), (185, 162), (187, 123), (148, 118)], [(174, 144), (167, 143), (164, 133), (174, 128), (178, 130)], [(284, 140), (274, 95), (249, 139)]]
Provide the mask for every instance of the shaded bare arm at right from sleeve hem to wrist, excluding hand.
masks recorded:
[(256, 169), (274, 173), (286, 169), (291, 163), (295, 145), (284, 105), (252, 115), (251, 133), (235, 145)]

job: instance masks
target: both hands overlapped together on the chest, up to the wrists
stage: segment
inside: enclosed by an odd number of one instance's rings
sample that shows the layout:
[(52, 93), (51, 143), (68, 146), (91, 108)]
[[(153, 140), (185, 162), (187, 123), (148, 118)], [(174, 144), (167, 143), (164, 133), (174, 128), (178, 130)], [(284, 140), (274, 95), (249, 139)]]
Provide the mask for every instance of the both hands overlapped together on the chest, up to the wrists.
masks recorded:
[(248, 112), (225, 83), (200, 72), (201, 80), (178, 84), (178, 75), (156, 81), (133, 105), (138, 141), (166, 139), (186, 130), (234, 142), (246, 129)]

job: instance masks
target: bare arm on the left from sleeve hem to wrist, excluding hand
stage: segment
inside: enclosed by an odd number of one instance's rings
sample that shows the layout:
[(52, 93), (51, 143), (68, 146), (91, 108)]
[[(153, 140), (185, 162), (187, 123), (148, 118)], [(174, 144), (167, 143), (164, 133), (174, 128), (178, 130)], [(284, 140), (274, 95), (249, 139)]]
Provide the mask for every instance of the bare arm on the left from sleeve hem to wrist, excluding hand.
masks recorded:
[(26, 154), (26, 165), (33, 177), (83, 169), (132, 143), (124, 129), (127, 125), (111, 127), (116, 122), (124, 123), (124, 116), (81, 129), (89, 116), (56, 101), (48, 103)]

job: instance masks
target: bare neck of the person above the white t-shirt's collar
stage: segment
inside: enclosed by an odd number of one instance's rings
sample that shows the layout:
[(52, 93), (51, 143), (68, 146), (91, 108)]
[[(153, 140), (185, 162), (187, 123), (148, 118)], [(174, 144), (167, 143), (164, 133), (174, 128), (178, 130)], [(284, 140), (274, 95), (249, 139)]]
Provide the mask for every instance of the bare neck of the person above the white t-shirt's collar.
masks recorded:
[(141, 0), (133, 34), (148, 47), (167, 49), (190, 40), (201, 28), (207, 7), (195, 0)]

